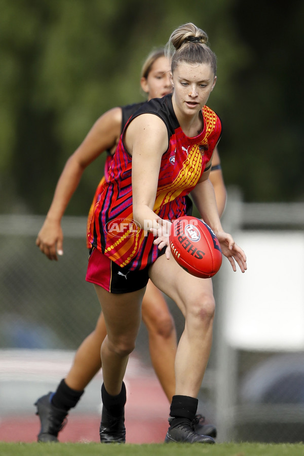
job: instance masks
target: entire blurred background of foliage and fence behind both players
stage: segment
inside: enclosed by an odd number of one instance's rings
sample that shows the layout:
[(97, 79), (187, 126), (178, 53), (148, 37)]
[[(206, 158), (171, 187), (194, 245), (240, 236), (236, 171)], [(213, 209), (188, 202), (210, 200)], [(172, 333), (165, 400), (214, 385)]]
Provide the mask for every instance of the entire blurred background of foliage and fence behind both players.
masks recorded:
[[(206, 30), (218, 57), (208, 105), (223, 124), (223, 224), (247, 247), (251, 267), (246, 279), (225, 267), (214, 278), (217, 316), (201, 404), (219, 441), (303, 440), (303, 2), (0, 5), (0, 440), (16, 438), (20, 416), (30, 422), (33, 401), (56, 387), (99, 315), (85, 282), (85, 230), (104, 157), (87, 168), (67, 208), (64, 256), (53, 263), (34, 242), (60, 172), (104, 111), (144, 99), (146, 55), (188, 21)], [(181, 315), (168, 305), (180, 335)], [(144, 327), (133, 363), (131, 384), (137, 378), (156, 388), (166, 419)], [(100, 385), (99, 378), (80, 412), (99, 413)], [(37, 429), (35, 419), (26, 438)], [(153, 438), (162, 441), (163, 431)]]

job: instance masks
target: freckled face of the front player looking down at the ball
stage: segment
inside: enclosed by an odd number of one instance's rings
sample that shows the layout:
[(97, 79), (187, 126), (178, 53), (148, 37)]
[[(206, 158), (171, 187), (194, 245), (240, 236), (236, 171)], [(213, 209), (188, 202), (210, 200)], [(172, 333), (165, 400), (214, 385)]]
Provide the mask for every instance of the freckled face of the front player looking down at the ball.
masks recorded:
[(196, 115), (207, 103), (215, 82), (211, 66), (179, 63), (172, 75), (174, 105), (183, 115)]

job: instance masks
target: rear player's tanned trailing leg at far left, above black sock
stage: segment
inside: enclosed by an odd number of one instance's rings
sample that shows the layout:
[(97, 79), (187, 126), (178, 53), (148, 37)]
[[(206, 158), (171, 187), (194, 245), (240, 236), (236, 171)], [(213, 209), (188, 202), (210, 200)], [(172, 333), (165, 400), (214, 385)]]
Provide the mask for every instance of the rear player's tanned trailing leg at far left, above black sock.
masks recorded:
[(84, 390), (100, 370), (100, 347), (105, 336), (105, 322), (100, 313), (94, 331), (85, 338), (77, 350), (73, 364), (64, 380), (69, 388), (76, 391)]

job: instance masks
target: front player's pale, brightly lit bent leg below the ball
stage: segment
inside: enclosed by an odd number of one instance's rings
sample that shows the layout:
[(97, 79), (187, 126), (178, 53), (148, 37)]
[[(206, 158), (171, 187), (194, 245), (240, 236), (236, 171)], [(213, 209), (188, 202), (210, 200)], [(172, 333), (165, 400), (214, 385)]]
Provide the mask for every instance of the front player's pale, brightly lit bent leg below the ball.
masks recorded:
[(176, 395), (198, 396), (212, 344), (214, 298), (211, 279), (185, 272), (165, 255), (150, 268), (150, 278), (185, 315), (175, 358)]

